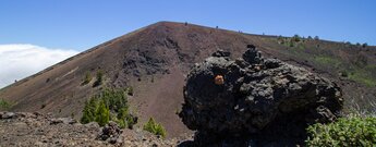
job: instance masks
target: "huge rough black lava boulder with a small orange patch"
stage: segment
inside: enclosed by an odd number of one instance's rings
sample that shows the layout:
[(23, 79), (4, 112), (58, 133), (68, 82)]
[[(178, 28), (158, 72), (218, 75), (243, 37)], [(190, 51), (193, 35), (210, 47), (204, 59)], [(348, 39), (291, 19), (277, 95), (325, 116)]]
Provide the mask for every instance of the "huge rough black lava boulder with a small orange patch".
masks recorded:
[(307, 124), (338, 118), (343, 99), (335, 83), (263, 58), (252, 45), (235, 61), (227, 54), (214, 53), (186, 77), (179, 115), (197, 131), (196, 146), (296, 145)]

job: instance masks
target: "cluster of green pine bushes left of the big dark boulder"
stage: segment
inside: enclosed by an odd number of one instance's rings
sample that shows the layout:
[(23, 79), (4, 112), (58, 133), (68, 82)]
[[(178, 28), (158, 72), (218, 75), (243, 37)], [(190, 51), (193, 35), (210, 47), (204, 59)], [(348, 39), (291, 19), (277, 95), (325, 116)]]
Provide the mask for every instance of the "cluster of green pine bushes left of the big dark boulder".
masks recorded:
[(81, 122), (98, 122), (104, 126), (109, 121), (114, 121), (122, 128), (133, 128), (137, 123), (137, 117), (129, 112), (128, 93), (128, 89), (104, 89), (86, 101)]

